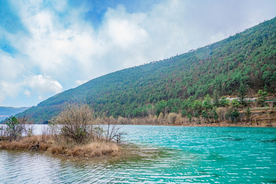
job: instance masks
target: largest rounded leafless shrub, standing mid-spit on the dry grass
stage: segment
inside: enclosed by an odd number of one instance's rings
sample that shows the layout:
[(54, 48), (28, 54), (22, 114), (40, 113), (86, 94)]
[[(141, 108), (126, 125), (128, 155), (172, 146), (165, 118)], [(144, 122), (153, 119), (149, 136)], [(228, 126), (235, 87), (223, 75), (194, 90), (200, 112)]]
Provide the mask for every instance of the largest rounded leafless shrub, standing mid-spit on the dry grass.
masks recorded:
[(83, 143), (91, 132), (94, 113), (85, 104), (67, 104), (51, 122), (60, 125), (61, 134), (77, 144)]

